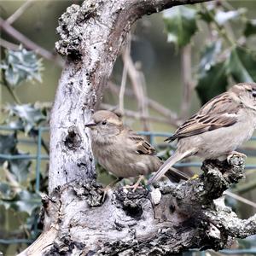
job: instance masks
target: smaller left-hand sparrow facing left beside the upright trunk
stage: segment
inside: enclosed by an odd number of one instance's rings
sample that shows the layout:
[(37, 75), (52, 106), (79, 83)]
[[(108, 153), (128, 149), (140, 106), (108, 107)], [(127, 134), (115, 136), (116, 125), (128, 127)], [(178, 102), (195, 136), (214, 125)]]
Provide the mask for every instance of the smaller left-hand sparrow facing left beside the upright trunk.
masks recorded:
[[(153, 146), (144, 137), (125, 127), (113, 112), (97, 111), (85, 127), (91, 130), (91, 148), (101, 166), (118, 179), (140, 176), (137, 183), (129, 188), (137, 189), (143, 175), (156, 172), (163, 164), (155, 155)], [(166, 176), (174, 182), (189, 178), (176, 169)]]

